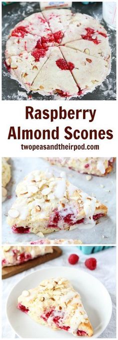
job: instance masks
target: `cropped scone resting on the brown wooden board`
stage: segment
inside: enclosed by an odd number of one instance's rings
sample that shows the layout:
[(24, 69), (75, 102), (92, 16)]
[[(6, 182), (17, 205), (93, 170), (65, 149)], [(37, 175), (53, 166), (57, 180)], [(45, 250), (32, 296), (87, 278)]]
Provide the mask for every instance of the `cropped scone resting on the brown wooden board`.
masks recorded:
[(29, 259), (52, 252), (52, 246), (3, 245), (1, 247), (1, 264), (2, 267), (21, 264)]

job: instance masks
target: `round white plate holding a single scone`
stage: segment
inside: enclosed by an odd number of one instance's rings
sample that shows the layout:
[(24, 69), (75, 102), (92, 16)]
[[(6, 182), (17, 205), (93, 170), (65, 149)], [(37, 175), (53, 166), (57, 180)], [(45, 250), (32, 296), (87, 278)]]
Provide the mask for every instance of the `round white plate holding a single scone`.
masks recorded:
[(54, 331), (39, 325), (16, 308), (17, 297), (22, 290), (36, 287), (43, 279), (58, 276), (69, 279), (73, 287), (80, 293), (84, 308), (93, 326), (93, 337), (99, 336), (106, 328), (112, 313), (109, 293), (104, 285), (91, 274), (64, 266), (36, 270), (26, 275), (12, 288), (7, 298), (6, 313), (15, 333), (24, 338), (73, 338), (73, 335), (66, 331)]

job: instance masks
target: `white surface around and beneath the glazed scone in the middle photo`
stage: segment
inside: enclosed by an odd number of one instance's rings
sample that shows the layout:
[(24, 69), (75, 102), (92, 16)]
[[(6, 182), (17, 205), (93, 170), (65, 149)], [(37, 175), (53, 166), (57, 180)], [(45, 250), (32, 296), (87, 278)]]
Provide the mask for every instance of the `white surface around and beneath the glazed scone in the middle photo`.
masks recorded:
[[(52, 166), (44, 158), (37, 157), (20, 157), (10, 158), (8, 161), (11, 164), (11, 180), (7, 185), (8, 198), (2, 203), (2, 244), (3, 243), (20, 243), (29, 242), (39, 239), (39, 236), (33, 233), (15, 234), (12, 233), (10, 226), (6, 223), (6, 215), (11, 207), (15, 196), (16, 184), (32, 170), (46, 170), (59, 175), (61, 171), (65, 171), (66, 177), (70, 182), (89, 195), (96, 196), (102, 203), (107, 205), (108, 214), (106, 217), (100, 218), (98, 224), (89, 229), (80, 229), (80, 225), (71, 231), (57, 231), (46, 234), (44, 237), (50, 239), (65, 238), (65, 239), (80, 239), (85, 244), (115, 244), (115, 165), (113, 171), (105, 177), (92, 176), (91, 180), (86, 179), (86, 174), (80, 174), (73, 170)], [(103, 187), (102, 187), (103, 186)]]

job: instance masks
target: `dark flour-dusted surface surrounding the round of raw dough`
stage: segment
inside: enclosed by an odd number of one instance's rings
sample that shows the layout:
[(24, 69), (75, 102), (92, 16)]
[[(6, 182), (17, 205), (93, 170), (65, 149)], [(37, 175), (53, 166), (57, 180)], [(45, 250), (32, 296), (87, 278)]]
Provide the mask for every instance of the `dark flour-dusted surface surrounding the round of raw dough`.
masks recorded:
[[(82, 97), (72, 97), (68, 100), (116, 100), (116, 31), (108, 28), (102, 19), (102, 2), (91, 2), (83, 5), (81, 2), (72, 2), (73, 11), (89, 14), (97, 18), (106, 28), (109, 35), (109, 44), (112, 52), (111, 72), (100, 86), (91, 93)], [(57, 95), (43, 96), (38, 93), (29, 93), (21, 85), (10, 78), (3, 63), (6, 40), (11, 28), (24, 19), (24, 17), (39, 11), (39, 2), (14, 2), (2, 6), (2, 99), (3, 100), (57, 100)], [(67, 100), (61, 98), (61, 100)]]

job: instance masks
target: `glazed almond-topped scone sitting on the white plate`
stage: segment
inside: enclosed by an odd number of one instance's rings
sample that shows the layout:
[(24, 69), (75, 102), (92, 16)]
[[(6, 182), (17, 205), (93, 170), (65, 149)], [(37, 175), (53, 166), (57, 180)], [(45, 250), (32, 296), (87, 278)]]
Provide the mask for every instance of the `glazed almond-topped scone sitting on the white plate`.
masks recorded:
[(75, 336), (91, 336), (93, 329), (80, 295), (66, 278), (54, 277), (23, 290), (17, 308), (34, 321)]

